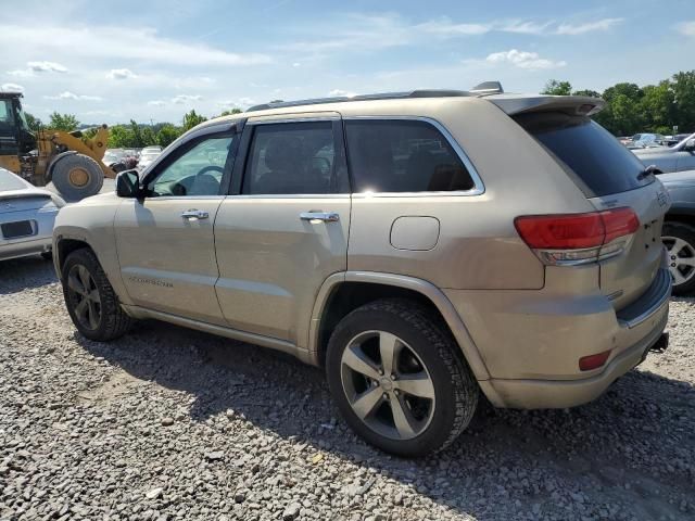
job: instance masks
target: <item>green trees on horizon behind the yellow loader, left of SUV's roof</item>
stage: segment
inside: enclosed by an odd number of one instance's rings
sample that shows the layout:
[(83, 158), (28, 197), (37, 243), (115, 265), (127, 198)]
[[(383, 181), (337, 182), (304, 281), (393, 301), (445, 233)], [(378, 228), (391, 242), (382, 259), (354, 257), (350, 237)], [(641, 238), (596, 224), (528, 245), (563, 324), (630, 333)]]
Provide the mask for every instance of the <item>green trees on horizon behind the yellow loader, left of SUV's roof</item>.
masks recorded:
[[(230, 111), (223, 112), (219, 116), (239, 114), (241, 110), (239, 109), (232, 109)], [(39, 118), (29, 113), (25, 113), (25, 115), (29, 128), (34, 131), (41, 128), (72, 131), (80, 127), (79, 120), (73, 114), (60, 114), (58, 112), (53, 112), (49, 116), (49, 122), (47, 124), (42, 124)], [(109, 127), (108, 147), (110, 149), (141, 149), (143, 147), (159, 144), (160, 147), (165, 148), (187, 130), (190, 130), (194, 126), (206, 120), (206, 117), (198, 114), (194, 110), (191, 110), (184, 115), (180, 125), (175, 125), (173, 123), (155, 123), (152, 125), (146, 125), (137, 123), (135, 119), (130, 119), (130, 123), (128, 124), (113, 125)], [(87, 128), (83, 129), (81, 132), (85, 138), (91, 138), (97, 132), (97, 129)]]

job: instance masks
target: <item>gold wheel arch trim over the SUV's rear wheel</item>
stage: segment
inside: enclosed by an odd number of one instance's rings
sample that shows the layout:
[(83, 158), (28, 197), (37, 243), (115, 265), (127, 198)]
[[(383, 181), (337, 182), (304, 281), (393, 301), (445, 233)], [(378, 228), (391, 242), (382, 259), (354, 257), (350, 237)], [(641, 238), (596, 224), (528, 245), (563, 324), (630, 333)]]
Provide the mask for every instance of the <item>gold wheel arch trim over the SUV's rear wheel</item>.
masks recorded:
[(476, 379), (490, 379), (466, 326), (439, 288), (422, 279), (375, 271), (346, 271), (326, 279), (312, 313), (308, 338), (311, 360), (318, 366), (324, 365), (330, 333), (345, 315), (368, 302), (393, 296), (407, 297), (430, 307), (456, 340)]

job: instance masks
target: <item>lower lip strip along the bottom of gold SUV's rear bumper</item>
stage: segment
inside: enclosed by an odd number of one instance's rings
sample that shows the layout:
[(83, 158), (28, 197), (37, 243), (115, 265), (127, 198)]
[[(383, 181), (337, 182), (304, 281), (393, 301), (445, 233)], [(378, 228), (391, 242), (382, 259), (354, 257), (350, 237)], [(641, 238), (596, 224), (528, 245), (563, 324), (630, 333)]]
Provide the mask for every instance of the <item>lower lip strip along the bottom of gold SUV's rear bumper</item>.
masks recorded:
[[(553, 409), (582, 405), (601, 396), (618, 378), (637, 366), (657, 343), (668, 319), (666, 313), (647, 336), (616, 356), (603, 371), (581, 380), (503, 380), (485, 382), (488, 396), (496, 407), (516, 409)], [(496, 403), (495, 403), (496, 402)]]

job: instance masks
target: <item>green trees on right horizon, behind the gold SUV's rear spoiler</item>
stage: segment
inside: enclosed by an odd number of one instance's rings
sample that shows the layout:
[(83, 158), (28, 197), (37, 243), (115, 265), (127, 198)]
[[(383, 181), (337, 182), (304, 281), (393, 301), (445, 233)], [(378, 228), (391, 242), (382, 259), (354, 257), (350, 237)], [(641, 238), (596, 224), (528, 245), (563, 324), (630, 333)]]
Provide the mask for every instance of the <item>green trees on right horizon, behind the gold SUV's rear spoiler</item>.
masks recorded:
[[(593, 117), (616, 136), (695, 131), (695, 71), (680, 72), (657, 85), (644, 87), (620, 82), (602, 93), (572, 90), (569, 81), (551, 79), (541, 93), (603, 98), (606, 106)], [(674, 131), (673, 127), (678, 130)]]

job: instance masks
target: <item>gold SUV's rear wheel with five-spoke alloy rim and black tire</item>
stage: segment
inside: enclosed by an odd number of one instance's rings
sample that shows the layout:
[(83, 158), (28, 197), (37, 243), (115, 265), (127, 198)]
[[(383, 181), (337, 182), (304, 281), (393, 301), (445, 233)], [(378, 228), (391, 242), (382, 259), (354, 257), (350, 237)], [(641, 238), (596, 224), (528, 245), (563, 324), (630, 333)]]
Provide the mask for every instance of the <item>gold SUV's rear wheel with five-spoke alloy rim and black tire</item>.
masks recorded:
[(345, 421), (399, 456), (448, 446), (478, 404), (478, 383), (458, 345), (412, 301), (376, 301), (343, 318), (328, 344), (326, 372)]

